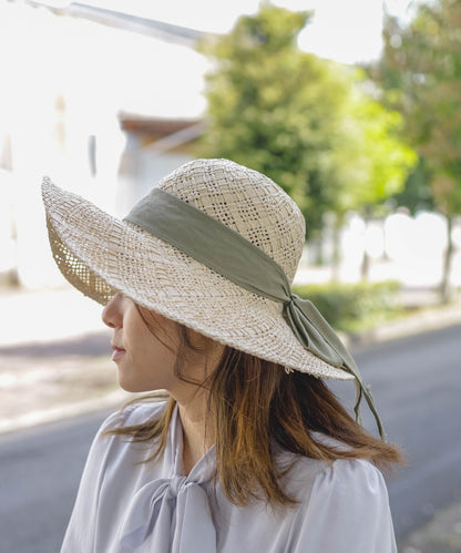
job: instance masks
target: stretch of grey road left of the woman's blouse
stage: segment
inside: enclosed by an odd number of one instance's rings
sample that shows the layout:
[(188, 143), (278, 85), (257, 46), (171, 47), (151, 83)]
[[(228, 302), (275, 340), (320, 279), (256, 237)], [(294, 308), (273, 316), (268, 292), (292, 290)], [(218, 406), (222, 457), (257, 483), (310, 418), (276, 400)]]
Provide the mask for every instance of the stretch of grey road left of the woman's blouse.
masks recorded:
[(0, 438), (0, 552), (59, 552), (99, 412)]

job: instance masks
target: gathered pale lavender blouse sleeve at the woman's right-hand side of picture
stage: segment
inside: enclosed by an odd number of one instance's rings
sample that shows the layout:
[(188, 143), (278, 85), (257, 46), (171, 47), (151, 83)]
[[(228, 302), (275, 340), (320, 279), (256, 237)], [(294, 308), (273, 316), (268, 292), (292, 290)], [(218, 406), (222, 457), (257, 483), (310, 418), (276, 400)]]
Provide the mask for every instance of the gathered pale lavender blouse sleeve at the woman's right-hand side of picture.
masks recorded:
[(294, 553), (397, 553), (382, 474), (368, 461), (335, 461), (299, 509)]

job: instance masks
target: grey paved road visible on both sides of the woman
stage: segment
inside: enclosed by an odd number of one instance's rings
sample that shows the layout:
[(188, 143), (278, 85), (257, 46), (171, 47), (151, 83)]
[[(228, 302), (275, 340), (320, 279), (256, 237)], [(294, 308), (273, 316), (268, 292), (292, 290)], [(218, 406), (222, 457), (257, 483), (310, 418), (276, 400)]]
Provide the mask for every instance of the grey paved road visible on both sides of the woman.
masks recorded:
[[(390, 441), (411, 464), (388, 479), (398, 537), (461, 498), (461, 326), (355, 352)], [(351, 402), (350, 383), (335, 391)], [(0, 552), (59, 551), (91, 438), (105, 412), (0, 438)], [(373, 428), (363, 412), (366, 426)]]

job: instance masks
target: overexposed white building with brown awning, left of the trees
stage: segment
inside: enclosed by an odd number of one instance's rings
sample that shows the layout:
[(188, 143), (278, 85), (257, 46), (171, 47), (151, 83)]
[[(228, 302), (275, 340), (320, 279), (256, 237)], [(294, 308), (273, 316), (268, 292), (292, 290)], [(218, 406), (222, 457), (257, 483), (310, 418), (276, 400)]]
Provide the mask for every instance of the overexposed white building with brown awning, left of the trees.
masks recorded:
[(205, 106), (201, 37), (78, 3), (0, 4), (3, 279), (17, 270), (27, 287), (61, 281), (45, 236), (43, 175), (124, 215), (192, 158), (186, 144)]

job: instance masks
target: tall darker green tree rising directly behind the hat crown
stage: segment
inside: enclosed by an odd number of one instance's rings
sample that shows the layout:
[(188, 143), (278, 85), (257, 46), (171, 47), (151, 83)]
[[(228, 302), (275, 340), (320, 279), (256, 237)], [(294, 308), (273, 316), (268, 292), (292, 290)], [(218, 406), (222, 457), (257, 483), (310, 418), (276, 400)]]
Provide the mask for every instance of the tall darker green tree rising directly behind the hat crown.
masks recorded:
[(310, 232), (336, 203), (328, 176), (348, 82), (334, 64), (298, 49), (309, 18), (263, 4), (228, 35), (202, 44), (215, 69), (199, 154), (270, 176), (298, 203)]

